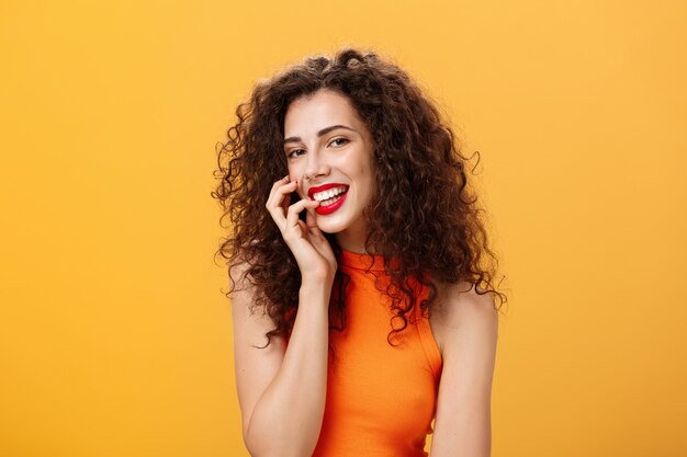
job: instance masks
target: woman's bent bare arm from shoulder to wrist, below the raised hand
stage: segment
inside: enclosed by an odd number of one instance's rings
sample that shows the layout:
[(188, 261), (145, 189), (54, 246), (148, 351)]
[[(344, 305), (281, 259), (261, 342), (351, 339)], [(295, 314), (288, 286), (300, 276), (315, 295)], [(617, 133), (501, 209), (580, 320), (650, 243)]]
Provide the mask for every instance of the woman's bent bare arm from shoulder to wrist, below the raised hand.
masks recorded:
[(230, 296), (244, 442), (254, 457), (301, 457), (315, 449), (326, 399), (329, 293), (322, 283), (304, 283), (288, 347), (273, 338), (263, 350), (252, 345), (264, 346), (271, 320), (250, 315), (250, 289)]

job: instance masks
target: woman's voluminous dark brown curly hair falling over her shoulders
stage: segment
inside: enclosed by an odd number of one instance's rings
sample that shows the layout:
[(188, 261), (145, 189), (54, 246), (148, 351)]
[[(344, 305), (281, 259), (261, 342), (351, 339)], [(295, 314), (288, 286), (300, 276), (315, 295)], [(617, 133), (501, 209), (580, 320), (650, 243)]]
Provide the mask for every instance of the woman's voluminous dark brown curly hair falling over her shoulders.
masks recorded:
[[(293, 101), (323, 89), (346, 95), (372, 134), (379, 192), (363, 213), (369, 228), (365, 249), (383, 256), (390, 276), (382, 290), (395, 313), (390, 344), (394, 333), (406, 329), (406, 315), (414, 307), (419, 306), (424, 317), (430, 315), (437, 281), (468, 282), (477, 294), (491, 293), (503, 305), (506, 296), (493, 285), (498, 260), (480, 216), (484, 209), (468, 186), (465, 163), (472, 157), (461, 153), (452, 129), (404, 70), (374, 52), (344, 48), (334, 57), (306, 57), (259, 81), (250, 100), (236, 108), (238, 123), (228, 129), (228, 140), (216, 148), (218, 184), (211, 195), (223, 208), (221, 225), (230, 220), (230, 235), (216, 254), (226, 259), (229, 273), (237, 261), (247, 263), (244, 277), (257, 290), (252, 306), (263, 308), (274, 324), (264, 347), (274, 335), (290, 336), (301, 287), (295, 258), (266, 209), (272, 184), (288, 174), (284, 117)], [(338, 258), (336, 238), (325, 236)], [(331, 329), (346, 325), (348, 279), (339, 269), (331, 293)], [(429, 287), (419, 305), (414, 287), (418, 283)], [(232, 281), (227, 296), (235, 287)], [(395, 328), (398, 318), (402, 325)]]

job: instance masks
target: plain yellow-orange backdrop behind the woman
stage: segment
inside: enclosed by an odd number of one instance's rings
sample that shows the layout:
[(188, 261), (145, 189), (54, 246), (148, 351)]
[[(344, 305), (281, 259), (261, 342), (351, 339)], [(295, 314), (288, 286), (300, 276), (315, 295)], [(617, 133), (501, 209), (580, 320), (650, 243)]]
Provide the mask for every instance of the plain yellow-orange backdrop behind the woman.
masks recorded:
[(247, 456), (214, 146), (255, 81), (341, 45), (482, 155), (493, 455), (687, 455), (686, 10), (3, 1), (0, 455)]

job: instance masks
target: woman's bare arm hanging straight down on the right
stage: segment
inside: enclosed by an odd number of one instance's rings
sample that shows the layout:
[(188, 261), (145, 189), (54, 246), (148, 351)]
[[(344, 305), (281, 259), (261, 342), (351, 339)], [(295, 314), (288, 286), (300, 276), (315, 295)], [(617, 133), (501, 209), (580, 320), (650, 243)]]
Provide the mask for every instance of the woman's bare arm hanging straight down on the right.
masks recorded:
[(491, 295), (451, 287), (441, 315), (443, 369), (431, 457), (488, 457), (498, 312)]

